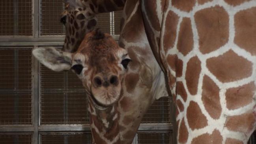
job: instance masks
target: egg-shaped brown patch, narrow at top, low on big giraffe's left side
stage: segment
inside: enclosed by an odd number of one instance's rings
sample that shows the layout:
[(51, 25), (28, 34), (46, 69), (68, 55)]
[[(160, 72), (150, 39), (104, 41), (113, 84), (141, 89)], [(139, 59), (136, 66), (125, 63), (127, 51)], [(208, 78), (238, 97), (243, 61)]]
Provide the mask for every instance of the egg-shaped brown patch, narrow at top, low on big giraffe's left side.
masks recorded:
[(193, 101), (187, 107), (187, 121), (192, 130), (203, 128), (208, 124), (206, 116), (202, 113), (199, 105)]

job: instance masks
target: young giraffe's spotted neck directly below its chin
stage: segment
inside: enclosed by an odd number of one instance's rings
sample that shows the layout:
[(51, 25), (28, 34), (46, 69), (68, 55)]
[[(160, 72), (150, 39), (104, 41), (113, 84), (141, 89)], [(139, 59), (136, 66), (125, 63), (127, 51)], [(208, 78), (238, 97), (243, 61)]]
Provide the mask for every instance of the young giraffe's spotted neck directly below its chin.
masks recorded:
[(120, 144), (118, 103), (109, 107), (95, 105), (89, 97), (88, 111), (93, 144)]

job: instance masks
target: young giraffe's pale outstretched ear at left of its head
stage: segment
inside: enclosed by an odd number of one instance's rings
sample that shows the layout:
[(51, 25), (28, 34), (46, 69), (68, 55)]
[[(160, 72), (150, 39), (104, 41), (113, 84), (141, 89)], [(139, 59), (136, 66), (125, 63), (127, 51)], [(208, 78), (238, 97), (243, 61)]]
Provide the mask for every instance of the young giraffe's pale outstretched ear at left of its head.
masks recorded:
[(36, 48), (33, 55), (47, 68), (56, 72), (70, 70), (72, 65), (72, 53), (63, 52), (54, 47)]

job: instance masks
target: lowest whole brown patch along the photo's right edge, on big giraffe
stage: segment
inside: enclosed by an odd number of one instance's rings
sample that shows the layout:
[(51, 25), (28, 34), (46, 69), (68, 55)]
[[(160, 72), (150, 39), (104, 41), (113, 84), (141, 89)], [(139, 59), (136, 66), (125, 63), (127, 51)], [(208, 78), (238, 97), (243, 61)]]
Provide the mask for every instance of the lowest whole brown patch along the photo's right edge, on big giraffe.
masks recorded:
[(225, 126), (230, 131), (248, 133), (254, 126), (255, 122), (254, 113), (245, 113), (238, 116), (228, 116)]

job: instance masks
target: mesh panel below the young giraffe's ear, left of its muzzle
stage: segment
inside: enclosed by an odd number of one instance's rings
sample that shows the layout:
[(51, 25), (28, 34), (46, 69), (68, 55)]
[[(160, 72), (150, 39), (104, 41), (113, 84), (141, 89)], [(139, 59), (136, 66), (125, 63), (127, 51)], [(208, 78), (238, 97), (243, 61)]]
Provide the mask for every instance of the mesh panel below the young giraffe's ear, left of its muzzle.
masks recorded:
[(88, 100), (73, 72), (53, 72), (40, 66), (41, 124), (89, 124)]

